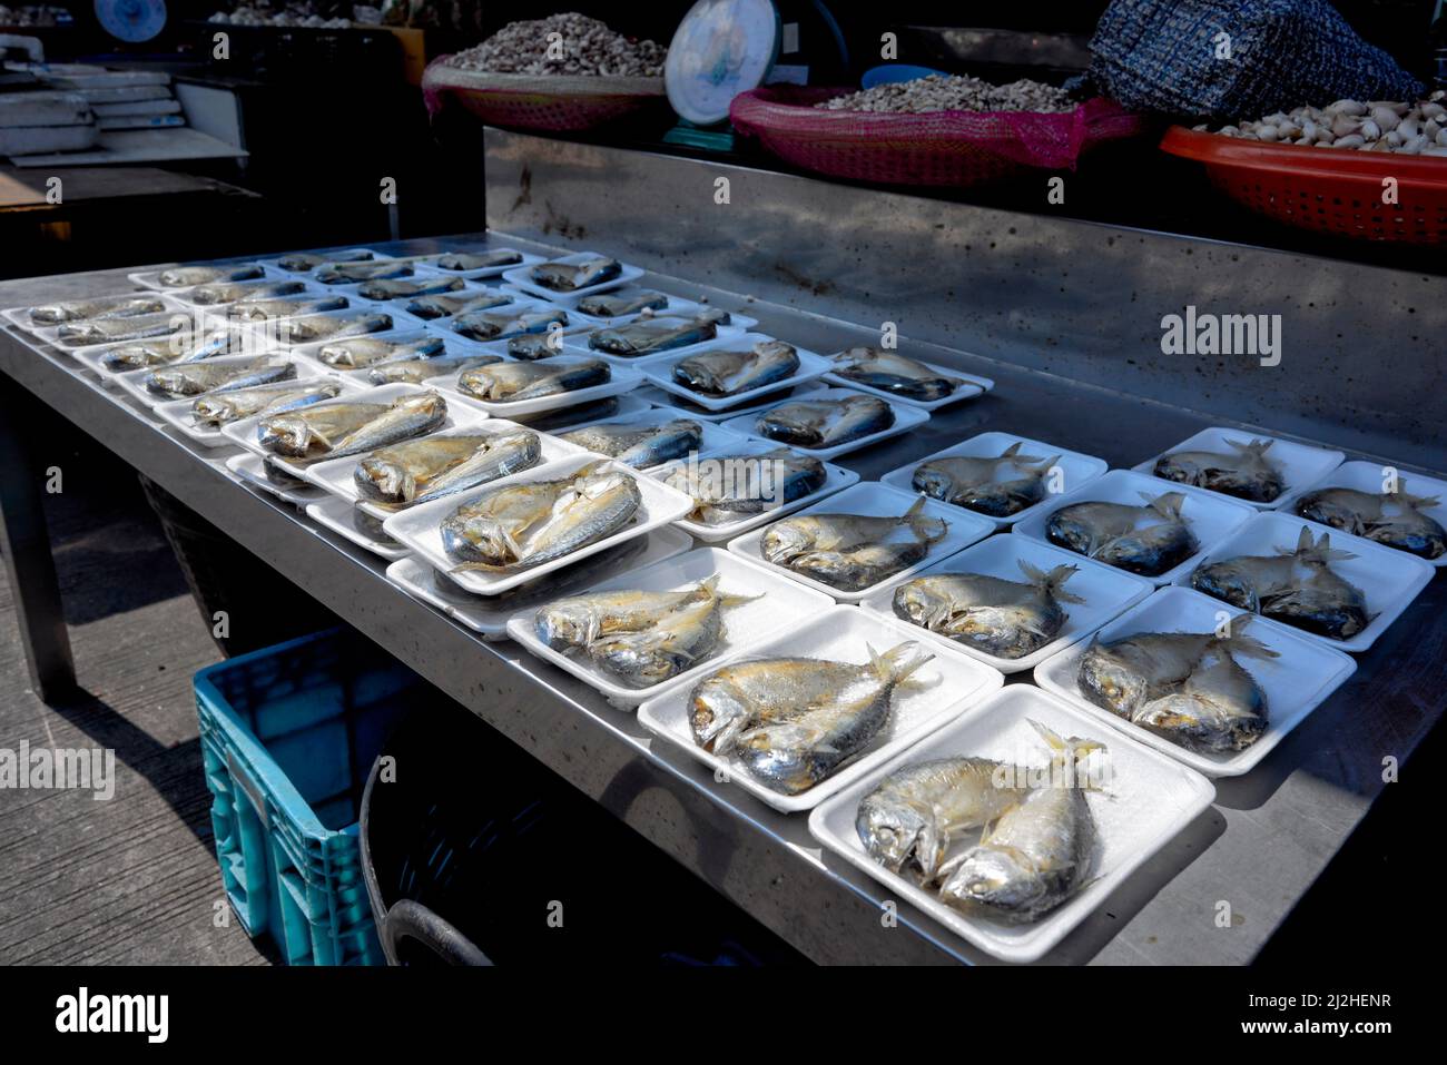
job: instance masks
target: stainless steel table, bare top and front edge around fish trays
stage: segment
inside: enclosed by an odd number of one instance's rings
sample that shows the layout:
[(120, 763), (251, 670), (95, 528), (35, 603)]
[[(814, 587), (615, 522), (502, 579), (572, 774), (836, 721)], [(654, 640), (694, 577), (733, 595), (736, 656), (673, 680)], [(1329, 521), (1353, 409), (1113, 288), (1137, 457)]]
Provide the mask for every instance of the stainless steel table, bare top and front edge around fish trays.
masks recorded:
[[(480, 236), (478, 237), (482, 239)], [(492, 243), (504, 243), (493, 233)], [(547, 250), (517, 237), (509, 246)], [(436, 242), (379, 245), (433, 250)], [(606, 250), (606, 249), (603, 249)], [(135, 269), (135, 268), (132, 268)], [(650, 273), (657, 288), (722, 307), (738, 295)], [(132, 288), (126, 271), (0, 284), (0, 307)], [(877, 336), (860, 326), (750, 302), (763, 331), (829, 352)], [(1223, 424), (1162, 402), (1082, 385), (1017, 365), (938, 349), (938, 360), (997, 381), (993, 394), (936, 411), (917, 431), (844, 457), (865, 479), (985, 430), (1009, 430), (1130, 466)], [(158, 421), (124, 394), (104, 389), (65, 353), (22, 333), (0, 333), (0, 462), (7, 485), (0, 548), (36, 648), (36, 683), (64, 687), (68, 648), (58, 621), (43, 519), (46, 464), (23, 440), (26, 408), (42, 402), (161, 483), (239, 544), (350, 621), (366, 637), (498, 728), (574, 787), (602, 803), (713, 888), (819, 962), (988, 962), (907, 903), (884, 919), (880, 884), (825, 855), (805, 816), (784, 816), (699, 763), (655, 742), (632, 713), (531, 658), (512, 642), (485, 644), (470, 629), (386, 582), (385, 563), (314, 525), (292, 506), (239, 482), (220, 457)], [(1253, 427), (1242, 427), (1253, 428)], [(30, 444), (30, 454), (25, 454)], [(220, 457), (218, 457), (220, 456)], [(1351, 456), (1362, 457), (1362, 456)], [(1380, 457), (1380, 456), (1373, 456)], [(38, 525), (38, 527), (36, 527)], [(48, 611), (49, 608), (49, 611)], [(1434, 580), (1357, 673), (1250, 774), (1217, 781), (1217, 800), (1106, 900), (1046, 961), (1056, 964), (1237, 964), (1249, 961), (1382, 790), (1383, 758), (1405, 761), (1441, 716), (1447, 692), (1447, 582)], [(1013, 683), (1027, 683), (1029, 673)], [(3, 738), (0, 738), (3, 741)], [(648, 886), (638, 884), (645, 899)], [(1217, 904), (1231, 904), (1227, 928)]]

